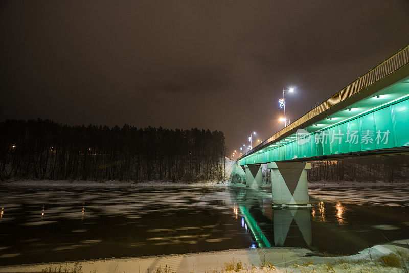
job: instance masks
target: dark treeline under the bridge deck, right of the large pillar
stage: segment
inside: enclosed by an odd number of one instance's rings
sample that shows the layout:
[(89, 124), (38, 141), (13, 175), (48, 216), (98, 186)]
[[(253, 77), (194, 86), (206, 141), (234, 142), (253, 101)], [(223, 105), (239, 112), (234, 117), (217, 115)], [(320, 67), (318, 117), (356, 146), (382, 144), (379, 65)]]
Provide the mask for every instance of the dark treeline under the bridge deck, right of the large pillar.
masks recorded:
[(311, 162), (309, 181), (403, 181), (409, 179), (409, 155)]

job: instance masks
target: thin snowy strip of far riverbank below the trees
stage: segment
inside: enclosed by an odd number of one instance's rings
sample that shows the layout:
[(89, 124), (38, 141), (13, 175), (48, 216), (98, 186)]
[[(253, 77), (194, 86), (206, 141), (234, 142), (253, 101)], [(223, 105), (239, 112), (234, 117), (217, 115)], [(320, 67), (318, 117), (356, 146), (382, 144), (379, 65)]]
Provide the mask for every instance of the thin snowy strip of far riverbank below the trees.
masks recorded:
[[(387, 183), (356, 182), (356, 181), (318, 181), (308, 182), (308, 187), (383, 187), (407, 186), (409, 181)], [(89, 181), (89, 180), (12, 180), (0, 181), (0, 186), (22, 187), (245, 187), (245, 184), (230, 183), (229, 181), (198, 181), (198, 182), (172, 182), (172, 181)], [(263, 184), (262, 188), (270, 188), (271, 184)]]

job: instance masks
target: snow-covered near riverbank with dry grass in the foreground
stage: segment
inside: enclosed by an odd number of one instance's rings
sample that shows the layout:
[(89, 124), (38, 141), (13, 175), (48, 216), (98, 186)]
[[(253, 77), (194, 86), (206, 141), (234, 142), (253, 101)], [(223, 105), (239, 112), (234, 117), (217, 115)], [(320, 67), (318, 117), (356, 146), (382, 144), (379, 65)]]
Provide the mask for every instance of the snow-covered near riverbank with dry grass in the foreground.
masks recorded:
[[(326, 257), (304, 248), (250, 248), (178, 255), (111, 258), (64, 263), (4, 266), (0, 272), (58, 272), (62, 266), (71, 272), (406, 272), (408, 240), (376, 245), (351, 256)], [(402, 259), (399, 267), (387, 266), (382, 257)], [(226, 264), (241, 262), (242, 269), (225, 270)], [(265, 266), (263, 266), (265, 265)], [(56, 269), (54, 271), (54, 269)], [(79, 272), (75, 271), (75, 272)]]

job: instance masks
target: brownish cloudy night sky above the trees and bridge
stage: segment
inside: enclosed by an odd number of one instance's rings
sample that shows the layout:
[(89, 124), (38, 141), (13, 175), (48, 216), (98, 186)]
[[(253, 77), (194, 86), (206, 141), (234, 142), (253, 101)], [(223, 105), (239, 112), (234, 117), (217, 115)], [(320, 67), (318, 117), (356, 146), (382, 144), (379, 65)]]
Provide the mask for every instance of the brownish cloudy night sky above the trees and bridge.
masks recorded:
[(409, 1), (1, 1), (0, 120), (282, 128), (409, 43)]

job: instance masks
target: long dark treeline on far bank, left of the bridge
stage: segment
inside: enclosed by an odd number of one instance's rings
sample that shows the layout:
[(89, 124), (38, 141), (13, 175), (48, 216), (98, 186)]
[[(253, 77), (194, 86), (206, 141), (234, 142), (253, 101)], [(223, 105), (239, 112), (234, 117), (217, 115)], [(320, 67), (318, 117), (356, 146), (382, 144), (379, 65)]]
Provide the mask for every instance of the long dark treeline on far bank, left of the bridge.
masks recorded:
[(214, 180), (224, 178), (221, 131), (0, 123), (0, 179)]

